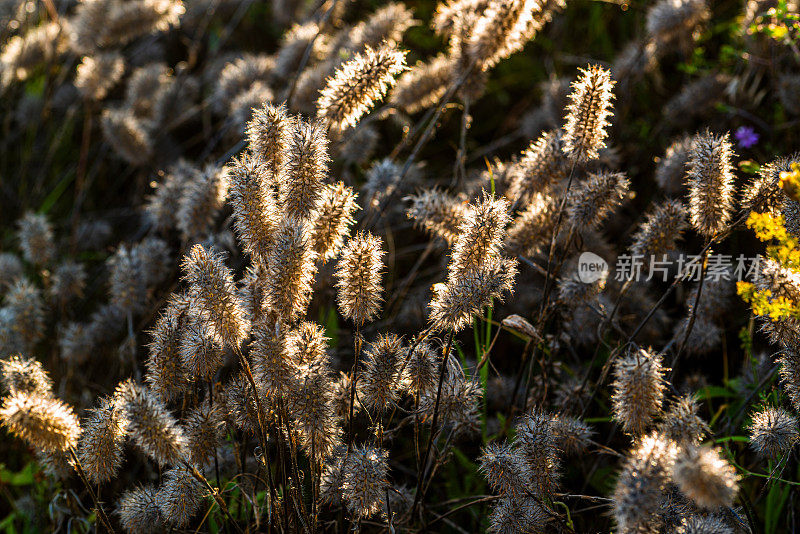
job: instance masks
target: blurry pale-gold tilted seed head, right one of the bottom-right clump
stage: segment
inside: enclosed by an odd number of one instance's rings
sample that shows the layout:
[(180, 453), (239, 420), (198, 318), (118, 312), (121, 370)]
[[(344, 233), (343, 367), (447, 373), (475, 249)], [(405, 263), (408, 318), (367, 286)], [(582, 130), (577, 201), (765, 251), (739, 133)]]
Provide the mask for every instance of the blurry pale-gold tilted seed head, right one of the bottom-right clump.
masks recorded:
[(738, 490), (736, 470), (710, 447), (681, 448), (672, 479), (684, 495), (710, 510), (732, 506)]

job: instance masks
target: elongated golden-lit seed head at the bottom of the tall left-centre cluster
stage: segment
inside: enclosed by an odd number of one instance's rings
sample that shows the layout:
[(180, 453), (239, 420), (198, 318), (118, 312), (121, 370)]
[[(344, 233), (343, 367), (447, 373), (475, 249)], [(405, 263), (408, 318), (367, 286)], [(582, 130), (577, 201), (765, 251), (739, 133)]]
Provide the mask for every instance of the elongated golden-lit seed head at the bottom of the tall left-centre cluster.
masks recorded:
[(308, 226), (285, 218), (275, 233), (275, 245), (267, 258), (265, 297), (270, 310), (284, 322), (302, 316), (311, 301), (317, 272), (317, 254)]

